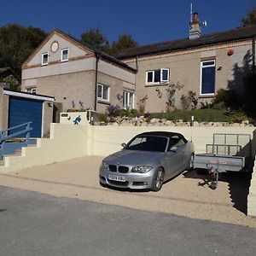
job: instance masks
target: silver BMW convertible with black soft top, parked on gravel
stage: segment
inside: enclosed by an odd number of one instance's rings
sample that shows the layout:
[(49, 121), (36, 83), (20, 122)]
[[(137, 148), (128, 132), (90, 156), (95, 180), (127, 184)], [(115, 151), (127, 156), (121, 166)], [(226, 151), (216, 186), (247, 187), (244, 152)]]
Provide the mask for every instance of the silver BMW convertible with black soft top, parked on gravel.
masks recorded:
[(159, 191), (166, 180), (190, 167), (194, 155), (194, 144), (177, 132), (144, 132), (122, 146), (102, 160), (102, 186)]

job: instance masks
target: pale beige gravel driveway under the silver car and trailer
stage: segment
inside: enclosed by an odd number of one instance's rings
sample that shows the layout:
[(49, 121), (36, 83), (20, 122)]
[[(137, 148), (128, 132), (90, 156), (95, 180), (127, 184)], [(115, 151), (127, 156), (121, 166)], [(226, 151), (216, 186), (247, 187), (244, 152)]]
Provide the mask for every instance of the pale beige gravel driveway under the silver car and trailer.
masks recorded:
[(249, 177), (224, 175), (216, 190), (207, 176), (184, 172), (165, 183), (160, 192), (132, 192), (102, 188), (98, 183), (100, 156), (85, 156), (19, 172), (0, 174), (0, 185), (38, 191), (57, 197), (102, 202), (188, 218), (240, 224), (256, 228), (256, 218), (246, 216)]

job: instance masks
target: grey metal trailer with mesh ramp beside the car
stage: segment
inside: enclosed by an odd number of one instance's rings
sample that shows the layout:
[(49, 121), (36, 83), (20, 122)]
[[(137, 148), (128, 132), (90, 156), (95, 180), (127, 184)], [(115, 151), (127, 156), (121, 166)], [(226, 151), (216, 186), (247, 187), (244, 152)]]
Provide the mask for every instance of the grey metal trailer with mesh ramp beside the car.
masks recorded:
[(212, 189), (217, 188), (223, 172), (252, 172), (251, 135), (214, 133), (212, 144), (207, 144), (205, 154), (195, 154), (192, 166), (209, 173)]

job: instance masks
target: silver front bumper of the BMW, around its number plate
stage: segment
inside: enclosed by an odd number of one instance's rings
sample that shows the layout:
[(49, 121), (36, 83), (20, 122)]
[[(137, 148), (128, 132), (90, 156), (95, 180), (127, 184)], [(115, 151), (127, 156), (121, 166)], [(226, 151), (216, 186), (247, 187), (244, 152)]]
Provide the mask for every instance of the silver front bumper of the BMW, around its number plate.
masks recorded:
[[(153, 183), (152, 170), (147, 173), (118, 173), (109, 172), (103, 168), (99, 172), (100, 183), (126, 189), (151, 189)], [(125, 181), (111, 180), (109, 176), (122, 177)]]

